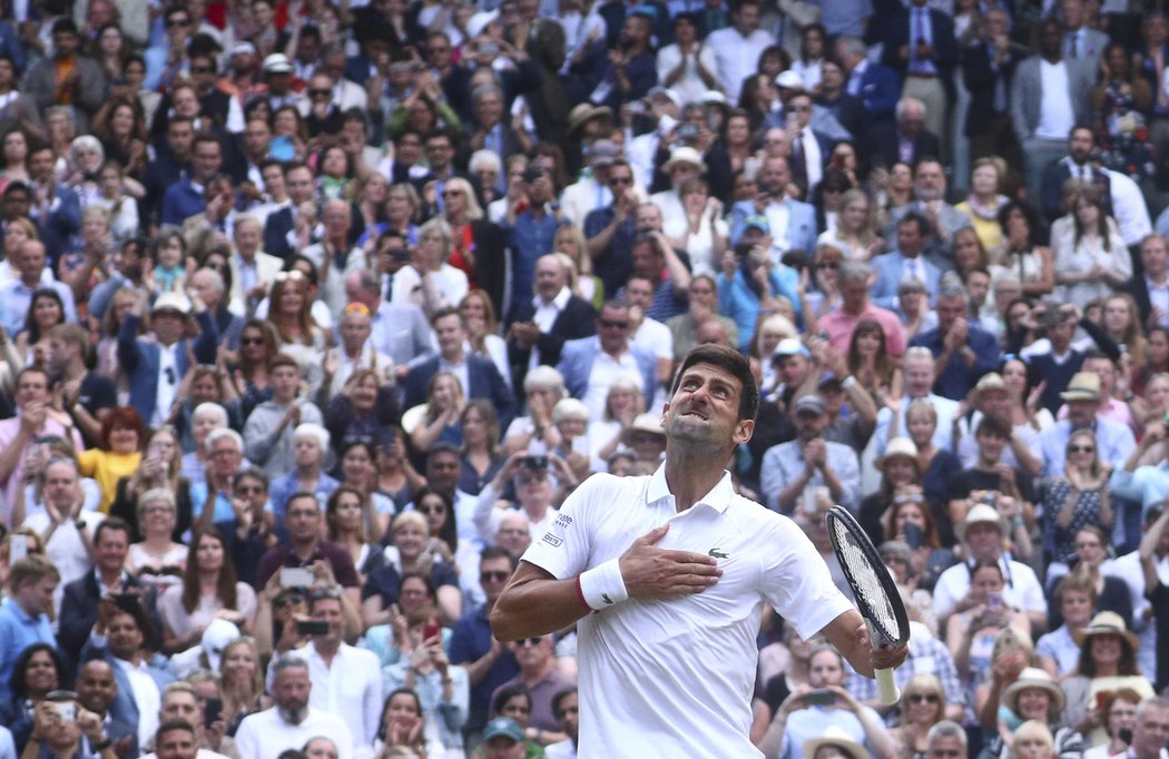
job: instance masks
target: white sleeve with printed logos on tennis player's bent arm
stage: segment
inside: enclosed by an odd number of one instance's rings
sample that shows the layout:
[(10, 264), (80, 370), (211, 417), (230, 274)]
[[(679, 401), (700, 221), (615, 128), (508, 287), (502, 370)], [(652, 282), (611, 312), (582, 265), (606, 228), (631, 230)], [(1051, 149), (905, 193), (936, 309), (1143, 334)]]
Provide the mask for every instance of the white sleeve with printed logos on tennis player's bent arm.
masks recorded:
[(560, 507), (552, 525), (532, 541), (524, 560), (556, 579), (576, 577), (588, 569), (592, 555), (590, 517), (595, 507), (609, 502), (620, 488), (617, 479), (596, 474), (576, 488)]

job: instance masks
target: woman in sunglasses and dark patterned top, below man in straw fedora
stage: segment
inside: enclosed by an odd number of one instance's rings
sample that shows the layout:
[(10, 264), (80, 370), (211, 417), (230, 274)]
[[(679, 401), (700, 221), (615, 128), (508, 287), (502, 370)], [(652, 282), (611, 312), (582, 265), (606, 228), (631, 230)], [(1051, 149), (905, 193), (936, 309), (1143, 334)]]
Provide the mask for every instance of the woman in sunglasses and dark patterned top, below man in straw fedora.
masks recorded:
[(1043, 499), (1044, 549), (1063, 569), (1059, 573), (1075, 558), (1077, 532), (1095, 527), (1112, 535), (1116, 517), (1108, 495), (1112, 465), (1100, 459), (1095, 433), (1072, 432), (1066, 453), (1063, 476), (1045, 489)]

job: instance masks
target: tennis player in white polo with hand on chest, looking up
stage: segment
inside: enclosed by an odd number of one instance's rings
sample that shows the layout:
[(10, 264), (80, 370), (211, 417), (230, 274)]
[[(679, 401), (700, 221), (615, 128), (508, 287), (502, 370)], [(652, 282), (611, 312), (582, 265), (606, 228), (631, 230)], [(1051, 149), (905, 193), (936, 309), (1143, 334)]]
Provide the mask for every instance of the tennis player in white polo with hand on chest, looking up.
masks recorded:
[(745, 357), (694, 348), (662, 416), (662, 467), (589, 478), (496, 603), (500, 640), (577, 624), (577, 755), (761, 757), (748, 727), (763, 601), (869, 677), (905, 660), (871, 647), (794, 522), (733, 492), (725, 466), (758, 409)]

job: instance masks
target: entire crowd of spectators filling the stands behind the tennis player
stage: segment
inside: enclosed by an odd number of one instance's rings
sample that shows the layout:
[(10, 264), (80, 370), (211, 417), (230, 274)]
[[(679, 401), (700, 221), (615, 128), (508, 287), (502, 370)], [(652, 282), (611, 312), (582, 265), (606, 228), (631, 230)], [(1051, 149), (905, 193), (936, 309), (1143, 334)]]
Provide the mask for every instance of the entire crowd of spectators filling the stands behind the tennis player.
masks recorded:
[(765, 757), (1162, 759), (1162, 5), (6, 4), (0, 759), (575, 757), (489, 614), (703, 343), (912, 618), (765, 611)]

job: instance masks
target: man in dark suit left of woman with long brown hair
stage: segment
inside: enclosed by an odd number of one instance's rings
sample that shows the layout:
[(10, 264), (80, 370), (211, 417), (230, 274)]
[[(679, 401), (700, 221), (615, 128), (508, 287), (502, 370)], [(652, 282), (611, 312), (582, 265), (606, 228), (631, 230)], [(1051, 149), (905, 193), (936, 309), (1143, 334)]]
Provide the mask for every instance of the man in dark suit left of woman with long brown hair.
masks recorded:
[(69, 671), (76, 669), (81, 649), (97, 621), (98, 601), (104, 596), (136, 592), (143, 587), (138, 578), (125, 570), (130, 532), (130, 524), (120, 517), (103, 520), (94, 531), (94, 571), (65, 585), (57, 642)]

